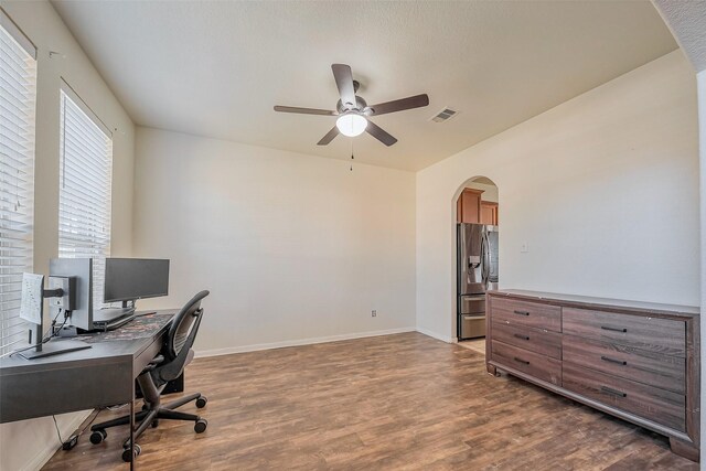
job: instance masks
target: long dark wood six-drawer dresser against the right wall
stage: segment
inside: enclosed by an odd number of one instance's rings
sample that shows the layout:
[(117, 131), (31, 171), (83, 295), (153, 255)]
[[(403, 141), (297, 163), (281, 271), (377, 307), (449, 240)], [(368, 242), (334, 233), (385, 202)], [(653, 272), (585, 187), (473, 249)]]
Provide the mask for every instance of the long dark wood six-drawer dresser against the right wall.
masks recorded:
[(503, 290), (489, 291), (486, 315), (489, 373), (665, 435), (698, 461), (698, 308)]

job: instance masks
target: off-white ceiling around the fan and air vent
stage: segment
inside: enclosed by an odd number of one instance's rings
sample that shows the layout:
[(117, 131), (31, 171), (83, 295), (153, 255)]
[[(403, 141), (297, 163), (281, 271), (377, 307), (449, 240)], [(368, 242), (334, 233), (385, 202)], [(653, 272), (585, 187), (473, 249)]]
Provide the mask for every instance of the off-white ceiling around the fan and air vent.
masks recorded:
[[(53, 1), (137, 125), (308, 154), (333, 117), (332, 63), (368, 104), (427, 93), (373, 118), (399, 141), (354, 138), (356, 161), (419, 170), (675, 50), (649, 1)], [(460, 113), (429, 121), (443, 107)]]

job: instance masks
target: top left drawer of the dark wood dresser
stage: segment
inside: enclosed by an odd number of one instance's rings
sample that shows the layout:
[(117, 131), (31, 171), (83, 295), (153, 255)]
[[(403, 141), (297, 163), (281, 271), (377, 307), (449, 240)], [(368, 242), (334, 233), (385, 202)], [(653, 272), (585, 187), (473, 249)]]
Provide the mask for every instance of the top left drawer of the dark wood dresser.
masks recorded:
[(492, 298), (493, 321), (561, 332), (561, 308), (515, 299)]

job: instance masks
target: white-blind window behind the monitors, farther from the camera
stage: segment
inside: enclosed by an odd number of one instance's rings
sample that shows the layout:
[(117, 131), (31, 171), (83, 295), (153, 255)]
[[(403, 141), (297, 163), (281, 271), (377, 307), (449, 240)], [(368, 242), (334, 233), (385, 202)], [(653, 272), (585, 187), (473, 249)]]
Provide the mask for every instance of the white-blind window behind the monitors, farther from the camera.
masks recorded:
[(93, 306), (103, 306), (110, 255), (113, 139), (78, 96), (61, 92), (58, 256), (93, 258)]

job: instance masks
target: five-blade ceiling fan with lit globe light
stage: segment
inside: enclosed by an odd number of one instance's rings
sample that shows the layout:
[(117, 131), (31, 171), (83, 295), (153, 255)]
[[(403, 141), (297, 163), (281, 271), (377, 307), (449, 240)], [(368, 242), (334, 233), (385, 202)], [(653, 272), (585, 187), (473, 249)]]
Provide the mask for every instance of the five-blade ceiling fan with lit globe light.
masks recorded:
[(365, 103), (363, 98), (355, 95), (361, 84), (353, 79), (351, 67), (345, 64), (332, 64), (331, 69), (333, 71), (333, 78), (335, 79), (335, 84), (339, 87), (339, 94), (341, 95), (341, 99), (336, 104), (335, 110), (275, 106), (275, 111), (280, 113), (338, 116), (339, 118), (335, 121), (335, 126), (327, 132), (323, 138), (321, 138), (318, 142), (319, 146), (327, 146), (339, 133), (355, 137), (362, 135), (363, 131), (373, 136), (385, 146), (392, 146), (397, 142), (397, 139), (387, 133), (379, 126), (375, 125), (368, 118), (371, 116), (404, 111), (405, 109), (420, 108), (429, 105), (429, 97), (427, 94), (422, 94), (367, 106), (367, 103)]

